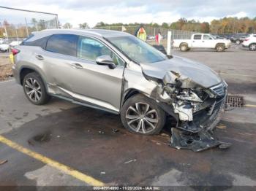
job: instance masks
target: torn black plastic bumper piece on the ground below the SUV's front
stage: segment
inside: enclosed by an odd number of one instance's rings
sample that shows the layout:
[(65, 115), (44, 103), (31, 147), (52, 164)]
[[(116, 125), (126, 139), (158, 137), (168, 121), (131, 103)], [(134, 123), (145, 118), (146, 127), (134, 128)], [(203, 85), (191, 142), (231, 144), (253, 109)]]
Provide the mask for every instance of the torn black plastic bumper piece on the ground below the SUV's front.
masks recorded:
[(172, 128), (171, 130), (172, 136), (169, 145), (176, 149), (192, 149), (194, 152), (200, 152), (214, 147), (227, 149), (231, 146), (230, 143), (218, 141), (206, 130), (201, 130), (198, 133), (190, 133), (177, 128)]

